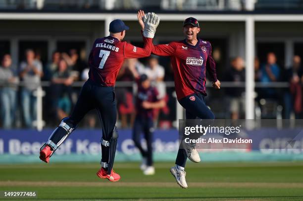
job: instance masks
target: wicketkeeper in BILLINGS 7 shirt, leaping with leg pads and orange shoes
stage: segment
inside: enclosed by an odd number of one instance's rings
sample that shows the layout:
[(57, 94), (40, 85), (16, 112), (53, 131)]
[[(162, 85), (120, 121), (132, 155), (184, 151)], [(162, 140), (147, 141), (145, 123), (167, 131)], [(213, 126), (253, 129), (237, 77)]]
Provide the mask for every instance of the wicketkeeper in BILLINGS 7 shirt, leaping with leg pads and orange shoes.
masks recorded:
[[(137, 16), (139, 17), (139, 14)], [(50, 156), (76, 129), (85, 114), (92, 109), (97, 109), (102, 126), (101, 168), (97, 175), (111, 182), (119, 181), (120, 175), (112, 170), (118, 139), (115, 127), (117, 109), (114, 84), (124, 59), (151, 55), (152, 38), (158, 24), (159, 17), (154, 13), (149, 13), (145, 29), (143, 29), (144, 48), (122, 41), (129, 27), (120, 19), (113, 20), (109, 24), (109, 36), (96, 39), (89, 56), (89, 79), (81, 89), (72, 114), (62, 119), (49, 140), (41, 147), (41, 160), (48, 163)]]

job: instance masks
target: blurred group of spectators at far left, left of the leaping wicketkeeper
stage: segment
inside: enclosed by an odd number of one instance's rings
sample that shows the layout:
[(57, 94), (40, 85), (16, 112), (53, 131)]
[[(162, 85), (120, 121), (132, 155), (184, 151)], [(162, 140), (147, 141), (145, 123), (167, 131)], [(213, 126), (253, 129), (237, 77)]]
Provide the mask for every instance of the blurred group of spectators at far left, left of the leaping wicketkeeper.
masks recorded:
[[(49, 81), (46, 87), (45, 108), (49, 119), (62, 119), (73, 107), (72, 84), (79, 80), (85, 62), (79, 61), (76, 50), (69, 53), (54, 52), (52, 61), (43, 65), (40, 55), (28, 49), (25, 59), (13, 65), (11, 56), (5, 54), (0, 66), (0, 112), (4, 129), (23, 126), (33, 128), (37, 119), (37, 89), (41, 81)], [(77, 92), (77, 91), (76, 91)], [(17, 123), (21, 122), (21, 123)], [(56, 121), (55, 121), (56, 122)]]

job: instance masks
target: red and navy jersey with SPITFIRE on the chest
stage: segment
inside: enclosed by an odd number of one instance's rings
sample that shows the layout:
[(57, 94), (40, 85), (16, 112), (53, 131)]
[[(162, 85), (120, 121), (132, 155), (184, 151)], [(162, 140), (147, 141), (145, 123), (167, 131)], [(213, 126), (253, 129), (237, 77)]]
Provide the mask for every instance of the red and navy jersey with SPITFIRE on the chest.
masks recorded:
[(198, 39), (196, 46), (188, 44), (186, 40), (153, 45), (152, 54), (170, 56), (178, 100), (194, 93), (206, 95), (206, 68), (211, 81), (217, 81), (215, 62), (208, 41)]

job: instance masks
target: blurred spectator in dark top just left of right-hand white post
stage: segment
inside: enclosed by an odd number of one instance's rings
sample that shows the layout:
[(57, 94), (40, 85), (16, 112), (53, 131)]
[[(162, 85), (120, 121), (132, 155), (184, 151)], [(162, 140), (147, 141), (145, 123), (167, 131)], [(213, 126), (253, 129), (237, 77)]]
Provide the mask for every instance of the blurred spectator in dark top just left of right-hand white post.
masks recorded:
[[(231, 61), (231, 67), (225, 72), (224, 81), (229, 82), (245, 82), (245, 68), (244, 61), (241, 57), (237, 57)], [(229, 99), (229, 111), (231, 119), (239, 119), (240, 112), (244, 109), (243, 93), (244, 87), (228, 87), (225, 93)]]

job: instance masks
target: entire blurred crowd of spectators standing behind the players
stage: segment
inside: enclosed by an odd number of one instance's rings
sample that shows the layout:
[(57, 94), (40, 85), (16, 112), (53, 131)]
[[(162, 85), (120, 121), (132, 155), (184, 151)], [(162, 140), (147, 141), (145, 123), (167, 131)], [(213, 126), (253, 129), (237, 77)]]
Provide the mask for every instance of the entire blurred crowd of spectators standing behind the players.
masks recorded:
[[(43, 65), (39, 55), (33, 50), (25, 51), (25, 59), (18, 66), (14, 66), (11, 56), (6, 54), (2, 57), (0, 66), (0, 127), (10, 129), (15, 127), (33, 128), (37, 118), (36, 91), (41, 87), (41, 81), (48, 81), (48, 87), (43, 87), (46, 92), (43, 101), (44, 119), (47, 126), (55, 126), (58, 120), (70, 114), (77, 100), (80, 87), (74, 87), (75, 81), (88, 79), (88, 64), (80, 57), (75, 49), (68, 53), (55, 51), (50, 63)], [(83, 59), (81, 59), (83, 58)], [(174, 97), (171, 90), (165, 86), (165, 73), (169, 73), (170, 67), (159, 64), (159, 58), (149, 57), (145, 62), (138, 59), (126, 59), (119, 71), (117, 81), (128, 83), (123, 87), (116, 87), (116, 100), (118, 108), (118, 122), (121, 128), (130, 128), (135, 118), (135, 94), (136, 82), (140, 75), (146, 74), (153, 86), (159, 92), (158, 98), (164, 99), (167, 106), (154, 110), (155, 125), (165, 120), (165, 117), (175, 107)], [(254, 61), (255, 81), (263, 84), (256, 88), (256, 105), (262, 107), (271, 100), (277, 105), (283, 106), (283, 118), (303, 118), (303, 67), (301, 58), (294, 56), (291, 67), (281, 67), (277, 64), (274, 53), (267, 54), (265, 63), (256, 58)], [(230, 67), (226, 67), (219, 75), (222, 81), (240, 83), (237, 87), (224, 87), (222, 91), (226, 102), (226, 112), (231, 119), (245, 118), (245, 61), (241, 57), (233, 58)], [(169, 80), (171, 81), (171, 79)], [(289, 87), (277, 88), (266, 87), (268, 83), (288, 83)], [(169, 91), (166, 92), (166, 90)], [(283, 95), (282, 95), (283, 94)], [(210, 97), (211, 98), (211, 97)], [(173, 100), (173, 101), (172, 101)], [(264, 113), (266, 111), (264, 110)], [(164, 118), (163, 118), (164, 117)], [(94, 128), (98, 126), (98, 115), (90, 112), (84, 125)], [(166, 119), (167, 120), (167, 119)], [(17, 123), (19, 122), (19, 124)], [(169, 119), (171, 126), (172, 119)]]

